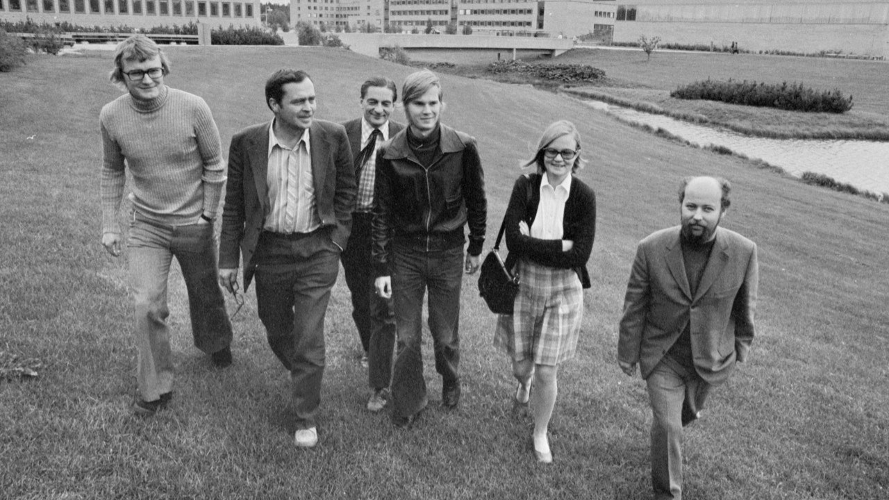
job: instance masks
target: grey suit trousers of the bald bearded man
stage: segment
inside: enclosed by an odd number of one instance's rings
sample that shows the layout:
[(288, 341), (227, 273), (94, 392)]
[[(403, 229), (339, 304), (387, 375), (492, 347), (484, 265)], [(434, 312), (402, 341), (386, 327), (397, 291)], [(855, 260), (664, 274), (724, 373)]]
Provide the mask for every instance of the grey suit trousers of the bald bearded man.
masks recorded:
[[(682, 498), (683, 415), (704, 407), (711, 385), (693, 367), (665, 356), (645, 379), (653, 422), (652, 487), (656, 500)], [(685, 423), (687, 422), (685, 419)]]

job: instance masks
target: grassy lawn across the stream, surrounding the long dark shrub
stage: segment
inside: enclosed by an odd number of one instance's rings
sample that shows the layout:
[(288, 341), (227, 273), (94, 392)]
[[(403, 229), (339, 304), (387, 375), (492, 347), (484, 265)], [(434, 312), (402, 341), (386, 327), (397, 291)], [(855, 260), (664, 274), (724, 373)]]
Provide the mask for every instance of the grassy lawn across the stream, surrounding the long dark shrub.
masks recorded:
[[(889, 102), (884, 98), (889, 64), (885, 61), (723, 52), (654, 52), (652, 59), (646, 60), (641, 50), (575, 49), (545, 63), (588, 64), (604, 69), (603, 81), (565, 89), (584, 98), (761, 137), (889, 141)], [(482, 65), (457, 72), (493, 77)], [(521, 76), (501, 78), (516, 81)], [(842, 115), (803, 113), (669, 96), (680, 85), (708, 78), (770, 84), (798, 82), (816, 90), (839, 89), (844, 95), (853, 96), (853, 109)]]

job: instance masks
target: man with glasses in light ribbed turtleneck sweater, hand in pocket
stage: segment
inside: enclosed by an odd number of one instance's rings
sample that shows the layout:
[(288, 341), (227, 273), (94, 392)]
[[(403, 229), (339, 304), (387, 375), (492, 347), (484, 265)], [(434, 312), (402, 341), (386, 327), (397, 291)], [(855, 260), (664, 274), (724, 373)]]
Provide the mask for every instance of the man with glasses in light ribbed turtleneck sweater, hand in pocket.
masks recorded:
[(196, 95), (164, 85), (170, 65), (147, 36), (130, 36), (115, 52), (112, 83), (128, 93), (100, 113), (102, 245), (121, 254), (117, 212), (126, 170), (132, 176), (127, 217), (130, 281), (135, 300), (139, 415), (172, 398), (172, 354), (166, 318), (172, 257), (188, 288), (195, 345), (216, 367), (231, 364), (231, 323), (216, 279), (213, 219), (225, 183), (220, 134)]

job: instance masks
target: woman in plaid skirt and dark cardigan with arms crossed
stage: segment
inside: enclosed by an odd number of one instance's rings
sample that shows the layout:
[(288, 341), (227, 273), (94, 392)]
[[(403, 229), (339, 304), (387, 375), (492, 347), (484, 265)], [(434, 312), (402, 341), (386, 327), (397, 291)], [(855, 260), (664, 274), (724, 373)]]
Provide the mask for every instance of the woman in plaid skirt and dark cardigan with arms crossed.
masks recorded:
[(537, 172), (517, 179), (504, 220), (508, 264), (521, 284), (513, 314), (497, 320), (494, 345), (512, 359), (516, 403), (530, 407), (534, 456), (544, 464), (553, 459), (547, 431), (558, 365), (577, 348), (596, 235), (596, 193), (574, 176), (585, 163), (580, 153), (571, 122), (549, 125), (525, 164)]

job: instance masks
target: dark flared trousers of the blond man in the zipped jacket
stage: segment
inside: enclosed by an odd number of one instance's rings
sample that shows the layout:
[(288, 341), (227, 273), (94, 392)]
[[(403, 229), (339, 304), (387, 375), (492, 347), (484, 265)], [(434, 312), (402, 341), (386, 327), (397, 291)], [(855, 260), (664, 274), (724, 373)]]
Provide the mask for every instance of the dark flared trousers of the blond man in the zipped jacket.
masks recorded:
[(460, 292), (463, 247), (425, 252), (392, 246), (392, 296), (398, 349), (392, 375), (394, 416), (416, 414), (428, 402), (420, 351), (423, 297), (429, 291), (429, 332), (436, 371), (445, 386), (460, 383)]

